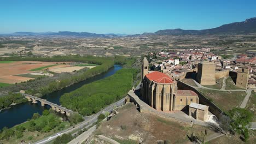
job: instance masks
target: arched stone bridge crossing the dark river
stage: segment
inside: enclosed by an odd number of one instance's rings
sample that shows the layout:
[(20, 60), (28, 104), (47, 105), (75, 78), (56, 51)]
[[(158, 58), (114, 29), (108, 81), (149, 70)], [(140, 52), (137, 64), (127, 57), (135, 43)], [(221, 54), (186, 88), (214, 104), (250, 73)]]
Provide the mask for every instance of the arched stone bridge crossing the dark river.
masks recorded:
[(42, 106), (49, 105), (49, 106), (51, 106), (51, 109), (56, 110), (57, 112), (60, 111), (61, 113), (66, 113), (67, 116), (70, 116), (71, 113), (74, 113), (72, 110), (68, 110), (65, 107), (51, 103), (50, 101), (47, 101), (45, 99), (34, 97), (33, 95), (29, 95), (29, 94), (25, 94), (25, 93), (22, 93), (22, 95), (24, 95), (24, 97), (27, 98), (28, 101), (32, 101), (32, 103), (37, 103), (37, 101), (40, 101)]

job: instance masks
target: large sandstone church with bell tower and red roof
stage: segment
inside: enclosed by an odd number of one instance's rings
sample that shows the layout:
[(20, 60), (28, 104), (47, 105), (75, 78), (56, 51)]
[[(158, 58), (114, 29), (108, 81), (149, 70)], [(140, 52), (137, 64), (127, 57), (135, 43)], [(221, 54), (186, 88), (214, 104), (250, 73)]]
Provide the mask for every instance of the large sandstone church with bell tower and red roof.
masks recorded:
[(141, 69), (141, 94), (144, 101), (156, 110), (188, 110), (190, 103), (199, 104), (199, 97), (190, 90), (178, 90), (177, 82), (159, 71), (149, 71), (147, 58)]

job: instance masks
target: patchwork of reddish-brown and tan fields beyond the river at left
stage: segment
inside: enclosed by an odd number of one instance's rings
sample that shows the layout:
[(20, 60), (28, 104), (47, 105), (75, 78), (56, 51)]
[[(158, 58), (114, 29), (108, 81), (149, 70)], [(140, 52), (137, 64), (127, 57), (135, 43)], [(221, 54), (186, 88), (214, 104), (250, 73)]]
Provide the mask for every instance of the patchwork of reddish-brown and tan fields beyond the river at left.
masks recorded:
[(56, 73), (72, 73), (74, 70), (84, 68), (79, 66), (73, 67), (69, 63), (71, 62), (0, 61), (0, 86), (4, 87), (8, 86), (8, 84), (20, 83), (42, 77), (44, 74), (37, 73), (45, 70), (52, 70)]

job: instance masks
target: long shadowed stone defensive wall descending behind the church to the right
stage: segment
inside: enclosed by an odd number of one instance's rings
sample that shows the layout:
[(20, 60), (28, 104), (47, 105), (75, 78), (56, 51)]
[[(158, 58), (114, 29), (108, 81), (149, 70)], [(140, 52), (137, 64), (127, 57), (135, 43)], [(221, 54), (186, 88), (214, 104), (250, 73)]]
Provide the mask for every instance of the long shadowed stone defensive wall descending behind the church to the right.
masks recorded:
[(224, 113), (217, 105), (213, 104), (208, 98), (206, 98), (203, 94), (197, 91), (197, 89), (190, 87), (186, 83), (178, 80), (177, 80), (177, 85), (178, 85), (178, 89), (191, 90), (191, 91), (194, 91), (196, 94), (198, 94), (199, 104), (209, 106), (209, 111), (213, 113), (213, 115), (217, 116), (218, 118), (220, 114)]

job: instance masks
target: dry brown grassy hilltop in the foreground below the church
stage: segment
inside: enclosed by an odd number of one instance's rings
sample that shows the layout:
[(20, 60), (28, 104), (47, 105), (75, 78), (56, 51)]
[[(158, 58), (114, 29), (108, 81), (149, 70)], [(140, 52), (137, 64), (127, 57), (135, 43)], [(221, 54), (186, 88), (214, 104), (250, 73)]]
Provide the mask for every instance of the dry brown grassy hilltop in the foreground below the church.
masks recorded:
[(214, 131), (194, 125), (172, 121), (146, 113), (139, 113), (136, 106), (127, 104), (118, 109), (118, 115), (103, 122), (97, 129), (98, 134), (112, 137), (115, 140), (135, 140), (137, 143), (157, 143), (158, 140), (170, 143), (190, 143), (187, 135), (200, 135), (207, 129), (208, 135)]

